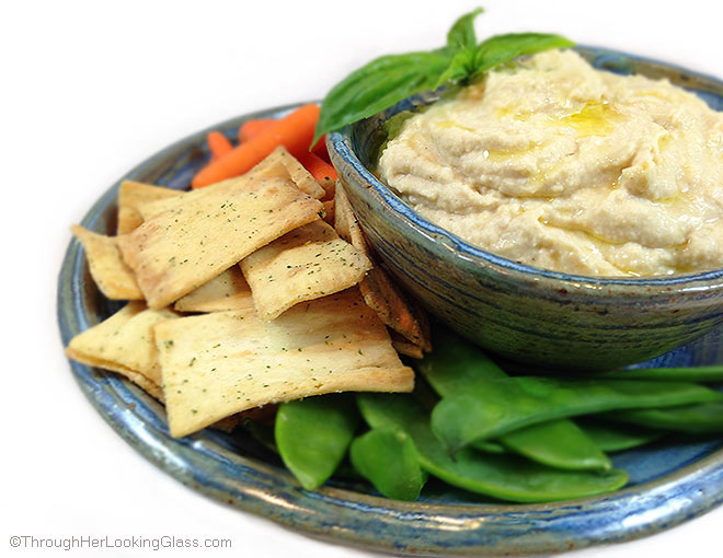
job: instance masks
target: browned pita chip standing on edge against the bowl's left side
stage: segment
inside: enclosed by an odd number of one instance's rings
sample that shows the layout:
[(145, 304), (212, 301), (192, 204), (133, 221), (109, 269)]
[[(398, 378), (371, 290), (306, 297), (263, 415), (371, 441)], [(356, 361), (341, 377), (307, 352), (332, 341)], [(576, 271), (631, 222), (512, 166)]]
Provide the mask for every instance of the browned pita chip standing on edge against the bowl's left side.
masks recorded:
[[(416, 345), (422, 351), (429, 352), (432, 350), (432, 338), (426, 313), (410, 301), (375, 263), (371, 249), (364, 237), (362, 228), (341, 184), (336, 185), (334, 202), (334, 226), (336, 232), (342, 239), (363, 251), (375, 264), (374, 268), (359, 283), (364, 301), (374, 309), (387, 326), (405, 337), (410, 344)], [(398, 345), (402, 346), (401, 344)], [(411, 348), (408, 346), (405, 346), (405, 354), (411, 352)]]

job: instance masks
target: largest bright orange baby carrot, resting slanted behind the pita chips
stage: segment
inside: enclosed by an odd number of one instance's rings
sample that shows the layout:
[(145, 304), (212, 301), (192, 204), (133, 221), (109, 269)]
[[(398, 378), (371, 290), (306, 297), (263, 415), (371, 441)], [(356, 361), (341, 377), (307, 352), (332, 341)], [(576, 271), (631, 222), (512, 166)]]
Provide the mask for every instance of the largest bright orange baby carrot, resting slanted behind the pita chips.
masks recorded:
[(192, 186), (202, 188), (246, 173), (278, 146), (286, 147), (292, 155), (299, 156), (308, 151), (318, 119), (318, 105), (309, 104), (297, 108), (218, 161), (211, 161), (194, 176)]

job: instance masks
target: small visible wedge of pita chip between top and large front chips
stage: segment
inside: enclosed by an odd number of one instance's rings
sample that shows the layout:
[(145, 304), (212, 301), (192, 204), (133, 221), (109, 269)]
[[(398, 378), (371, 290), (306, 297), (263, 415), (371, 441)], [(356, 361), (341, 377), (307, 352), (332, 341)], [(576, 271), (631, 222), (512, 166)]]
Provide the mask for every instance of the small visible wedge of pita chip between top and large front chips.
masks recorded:
[(225, 312), (253, 310), (254, 304), (251, 287), (239, 266), (233, 266), (179, 299), (174, 309), (179, 312)]

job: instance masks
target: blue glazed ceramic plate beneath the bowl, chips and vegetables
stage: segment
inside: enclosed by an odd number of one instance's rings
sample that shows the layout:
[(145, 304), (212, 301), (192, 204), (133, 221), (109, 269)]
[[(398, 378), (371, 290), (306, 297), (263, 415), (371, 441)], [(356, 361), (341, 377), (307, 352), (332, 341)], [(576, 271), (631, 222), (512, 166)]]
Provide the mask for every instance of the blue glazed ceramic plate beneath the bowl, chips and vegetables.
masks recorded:
[[(630, 57), (598, 53), (599, 66), (624, 71)], [(298, 105), (295, 105), (298, 106)], [(276, 118), (294, 106), (221, 123), (229, 137), (253, 118)], [(82, 221), (113, 234), (123, 179), (185, 188), (208, 153), (199, 131), (151, 156), (114, 184)], [(79, 243), (68, 247), (58, 280), (58, 319), (65, 345), (122, 304), (93, 284)], [(722, 330), (652, 361), (655, 365), (723, 362)], [(100, 415), (150, 462), (195, 490), (311, 536), (400, 555), (529, 555), (564, 551), (646, 536), (723, 502), (723, 440), (662, 441), (613, 456), (630, 473), (628, 487), (605, 497), (548, 504), (508, 504), (432, 483), (416, 502), (375, 496), (362, 484), (334, 479), (303, 490), (280, 462), (245, 435), (204, 430), (169, 435), (163, 408), (119, 376), (70, 362)]]

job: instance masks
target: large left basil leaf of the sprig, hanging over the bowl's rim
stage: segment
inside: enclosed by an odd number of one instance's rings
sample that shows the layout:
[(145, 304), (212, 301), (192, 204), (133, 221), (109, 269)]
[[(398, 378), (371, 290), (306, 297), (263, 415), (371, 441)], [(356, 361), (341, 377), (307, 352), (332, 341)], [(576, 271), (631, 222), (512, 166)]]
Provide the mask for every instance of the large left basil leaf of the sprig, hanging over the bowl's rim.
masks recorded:
[(324, 97), (312, 144), (328, 131), (374, 116), (421, 91), (435, 89), (449, 61), (444, 49), (388, 55), (352, 72)]

